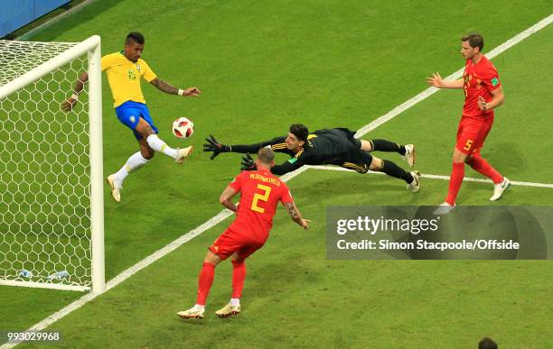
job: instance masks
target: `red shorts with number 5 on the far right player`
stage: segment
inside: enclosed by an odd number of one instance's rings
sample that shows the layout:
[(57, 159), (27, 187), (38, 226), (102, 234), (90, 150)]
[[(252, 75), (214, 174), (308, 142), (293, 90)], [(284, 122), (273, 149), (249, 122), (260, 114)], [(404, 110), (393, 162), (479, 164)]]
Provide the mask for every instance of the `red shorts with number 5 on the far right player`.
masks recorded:
[(464, 152), (467, 155), (479, 154), (484, 140), (492, 129), (492, 124), (493, 116), (476, 120), (463, 117), (457, 128), (455, 147), (459, 152)]

